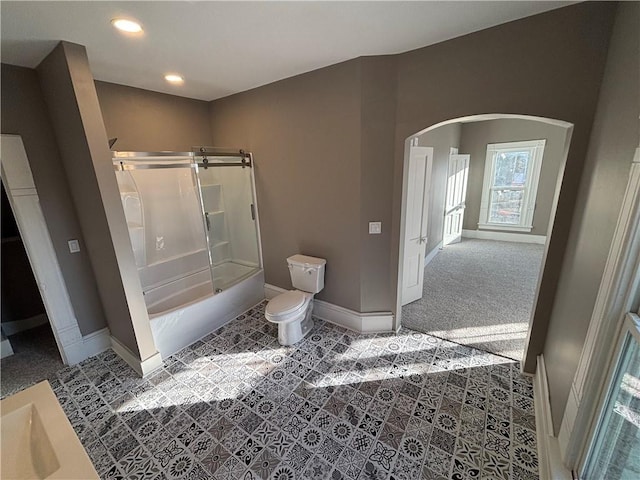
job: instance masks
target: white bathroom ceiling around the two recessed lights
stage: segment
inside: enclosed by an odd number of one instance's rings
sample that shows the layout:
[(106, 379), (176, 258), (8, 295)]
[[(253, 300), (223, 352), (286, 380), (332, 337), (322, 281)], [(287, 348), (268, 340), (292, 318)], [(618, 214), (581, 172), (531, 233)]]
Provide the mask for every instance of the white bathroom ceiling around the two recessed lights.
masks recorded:
[[(213, 100), (362, 55), (405, 52), (574, 2), (0, 2), (2, 62), (35, 67), (59, 40), (94, 77)], [(124, 36), (114, 17), (140, 21)], [(179, 72), (182, 86), (163, 75)]]

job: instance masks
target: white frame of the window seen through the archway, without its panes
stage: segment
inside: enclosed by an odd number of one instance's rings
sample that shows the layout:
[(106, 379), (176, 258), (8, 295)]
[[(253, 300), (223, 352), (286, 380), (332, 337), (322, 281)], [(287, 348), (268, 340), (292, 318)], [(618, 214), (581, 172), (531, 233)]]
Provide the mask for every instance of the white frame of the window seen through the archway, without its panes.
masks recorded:
[[(490, 143), (487, 145), (487, 157), (484, 164), (484, 183), (482, 186), (482, 199), (480, 201), (480, 221), (479, 229), (486, 230), (508, 230), (512, 232), (530, 232), (533, 228), (533, 213), (536, 206), (536, 196), (538, 194), (538, 181), (540, 180), (540, 170), (542, 168), (542, 156), (546, 140), (529, 140), (524, 142), (508, 142), (508, 143)], [(520, 215), (520, 223), (504, 224), (492, 223), (489, 221), (489, 200), (491, 199), (491, 191), (494, 188), (493, 178), (495, 174), (496, 158), (500, 153), (523, 151), (530, 152), (530, 164), (527, 168), (527, 179), (525, 185), (514, 190), (523, 190), (522, 212)]]

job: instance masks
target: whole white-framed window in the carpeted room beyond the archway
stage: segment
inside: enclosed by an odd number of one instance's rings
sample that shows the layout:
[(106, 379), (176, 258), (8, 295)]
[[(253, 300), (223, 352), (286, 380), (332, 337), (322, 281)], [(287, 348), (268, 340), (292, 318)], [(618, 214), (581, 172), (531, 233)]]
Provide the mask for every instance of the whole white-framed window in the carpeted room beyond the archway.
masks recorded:
[(479, 228), (531, 231), (545, 143), (487, 145)]

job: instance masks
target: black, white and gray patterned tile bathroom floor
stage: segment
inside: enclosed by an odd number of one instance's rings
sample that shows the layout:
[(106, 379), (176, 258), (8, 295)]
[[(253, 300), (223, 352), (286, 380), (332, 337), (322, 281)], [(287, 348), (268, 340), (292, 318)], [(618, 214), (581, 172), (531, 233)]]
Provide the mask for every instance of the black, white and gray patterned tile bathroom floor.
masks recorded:
[(515, 362), (322, 321), (282, 347), (263, 310), (147, 379), (112, 351), (57, 372), (102, 478), (538, 478), (533, 387)]

